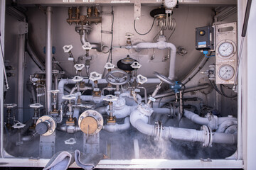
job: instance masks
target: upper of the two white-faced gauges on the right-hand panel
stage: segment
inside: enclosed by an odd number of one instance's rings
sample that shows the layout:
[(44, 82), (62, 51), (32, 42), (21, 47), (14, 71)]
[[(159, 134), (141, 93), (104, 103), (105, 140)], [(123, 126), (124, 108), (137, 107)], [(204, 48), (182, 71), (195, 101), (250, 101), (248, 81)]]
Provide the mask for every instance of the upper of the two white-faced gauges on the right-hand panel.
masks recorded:
[(220, 57), (230, 58), (233, 57), (236, 52), (235, 43), (231, 40), (223, 40), (218, 46), (218, 54)]

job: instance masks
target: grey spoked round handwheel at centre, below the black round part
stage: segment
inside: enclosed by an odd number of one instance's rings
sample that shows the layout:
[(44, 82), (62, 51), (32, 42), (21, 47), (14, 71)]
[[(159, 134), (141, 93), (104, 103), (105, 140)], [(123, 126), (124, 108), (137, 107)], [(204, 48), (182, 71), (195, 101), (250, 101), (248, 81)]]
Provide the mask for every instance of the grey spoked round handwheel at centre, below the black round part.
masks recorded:
[(106, 81), (113, 85), (126, 84), (129, 81), (129, 74), (122, 70), (113, 70), (107, 73)]

